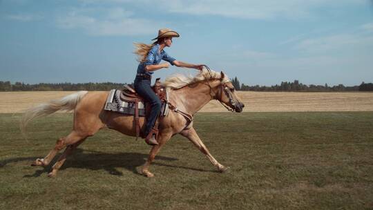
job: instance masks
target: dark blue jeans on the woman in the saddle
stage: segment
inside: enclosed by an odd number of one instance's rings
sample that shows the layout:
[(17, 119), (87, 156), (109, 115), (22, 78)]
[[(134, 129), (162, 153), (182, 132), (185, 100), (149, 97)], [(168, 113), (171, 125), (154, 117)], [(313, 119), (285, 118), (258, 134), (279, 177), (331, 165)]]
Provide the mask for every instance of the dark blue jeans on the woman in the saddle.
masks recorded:
[(157, 120), (158, 115), (160, 114), (162, 103), (160, 99), (155, 95), (153, 89), (151, 88), (151, 80), (150, 79), (139, 79), (136, 78), (134, 82), (134, 88), (136, 92), (143, 97), (146, 102), (151, 104), (151, 113), (146, 120), (144, 133), (148, 135), (155, 124), (155, 120)]

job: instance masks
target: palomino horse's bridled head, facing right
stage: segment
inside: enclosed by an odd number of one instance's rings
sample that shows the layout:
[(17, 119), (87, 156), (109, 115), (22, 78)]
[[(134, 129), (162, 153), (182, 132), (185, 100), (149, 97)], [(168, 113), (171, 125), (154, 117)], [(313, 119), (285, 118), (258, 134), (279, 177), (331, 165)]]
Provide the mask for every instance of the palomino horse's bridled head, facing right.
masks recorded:
[(216, 99), (229, 111), (236, 111), (238, 113), (242, 112), (245, 104), (242, 103), (242, 100), (236, 94), (236, 90), (227, 75), (223, 72), (220, 74), (220, 84), (217, 87), (218, 91), (216, 92)]

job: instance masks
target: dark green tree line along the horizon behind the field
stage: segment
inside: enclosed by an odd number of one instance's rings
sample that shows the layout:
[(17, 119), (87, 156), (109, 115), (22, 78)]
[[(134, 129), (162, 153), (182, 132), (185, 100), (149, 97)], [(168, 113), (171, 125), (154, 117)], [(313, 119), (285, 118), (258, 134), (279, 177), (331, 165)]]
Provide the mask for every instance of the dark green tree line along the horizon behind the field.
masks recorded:
[[(339, 84), (337, 86), (325, 85), (306, 85), (300, 83), (298, 80), (294, 82), (281, 82), (274, 86), (259, 86), (240, 84), (238, 78), (232, 78), (231, 82), (236, 90), (251, 90), (251, 91), (303, 91), (303, 92), (327, 92), (327, 91), (373, 91), (372, 83), (361, 83), (359, 86), (344, 86)], [(0, 91), (75, 91), (75, 90), (111, 90), (114, 88), (122, 88), (123, 83), (102, 82), (102, 83), (39, 83), (39, 84), (25, 84), (23, 82), (16, 82), (11, 84), (9, 81), (0, 81)]]

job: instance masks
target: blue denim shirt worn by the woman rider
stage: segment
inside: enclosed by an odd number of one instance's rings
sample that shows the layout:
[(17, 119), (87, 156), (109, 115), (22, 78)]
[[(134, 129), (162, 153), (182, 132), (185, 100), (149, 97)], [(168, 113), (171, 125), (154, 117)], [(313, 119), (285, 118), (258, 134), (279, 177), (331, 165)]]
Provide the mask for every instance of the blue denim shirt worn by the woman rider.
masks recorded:
[(162, 50), (160, 51), (160, 45), (155, 44), (153, 48), (149, 51), (148, 55), (146, 56), (146, 60), (144, 62), (141, 62), (139, 66), (137, 67), (137, 73), (138, 74), (146, 74), (146, 75), (152, 75), (153, 72), (145, 70), (146, 65), (157, 65), (160, 64), (161, 60), (169, 61), (171, 65), (173, 65), (174, 59), (173, 57), (170, 57), (166, 51)]

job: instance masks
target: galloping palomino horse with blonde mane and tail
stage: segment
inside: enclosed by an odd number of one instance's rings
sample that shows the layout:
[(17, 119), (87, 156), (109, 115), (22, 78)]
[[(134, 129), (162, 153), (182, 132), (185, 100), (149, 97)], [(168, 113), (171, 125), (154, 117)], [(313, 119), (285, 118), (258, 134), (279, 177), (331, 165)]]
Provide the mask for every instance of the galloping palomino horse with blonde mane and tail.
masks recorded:
[[(216, 73), (212, 70), (204, 68), (195, 77), (187, 77), (178, 75), (169, 77), (163, 84), (169, 92), (169, 102), (182, 113), (189, 115), (195, 114), (211, 99), (217, 99), (230, 111), (242, 112), (244, 104), (236, 95), (233, 85), (224, 73)], [(61, 137), (57, 140), (55, 147), (46, 155), (45, 158), (37, 159), (32, 166), (46, 166), (61, 150), (65, 149), (64, 153), (59, 157), (55, 165), (52, 166), (52, 171), (48, 176), (52, 177), (57, 174), (59, 168), (64, 164), (66, 157), (79, 144), (82, 144), (87, 137), (94, 135), (101, 128), (112, 128), (125, 135), (136, 135), (136, 128), (133, 116), (122, 115), (112, 111), (105, 111), (104, 104), (108, 92), (104, 93), (88, 93), (87, 91), (79, 91), (68, 95), (62, 99), (52, 100), (46, 104), (40, 104), (34, 108), (30, 108), (24, 113), (21, 129), (24, 131), (26, 125), (35, 117), (50, 115), (56, 111), (73, 111), (74, 110), (74, 125), (73, 131), (66, 137)], [(149, 158), (142, 167), (142, 174), (147, 177), (153, 177), (153, 173), (149, 171), (149, 166), (154, 160), (155, 155), (160, 151), (162, 146), (175, 134), (180, 134), (187, 137), (195, 146), (209, 158), (211, 163), (218, 168), (220, 172), (224, 172), (228, 167), (220, 164), (210, 154), (209, 150), (200, 140), (198, 134), (193, 128), (193, 121), (190, 117), (180, 114), (180, 112), (170, 111), (168, 115), (160, 117), (158, 145), (152, 147)], [(140, 125), (144, 124), (144, 117), (140, 117)]]

